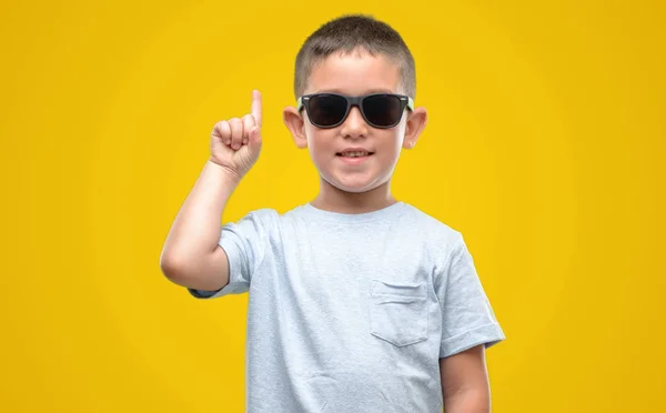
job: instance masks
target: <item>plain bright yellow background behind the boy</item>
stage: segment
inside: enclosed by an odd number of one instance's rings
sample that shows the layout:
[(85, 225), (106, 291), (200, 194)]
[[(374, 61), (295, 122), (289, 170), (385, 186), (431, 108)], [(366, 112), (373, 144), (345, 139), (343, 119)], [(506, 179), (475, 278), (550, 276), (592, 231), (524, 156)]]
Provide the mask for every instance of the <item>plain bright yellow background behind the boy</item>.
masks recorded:
[(196, 301), (159, 254), (253, 88), (224, 221), (314, 197), (293, 62), (359, 11), (414, 53), (430, 122), (394, 191), (466, 238), (494, 412), (664, 411), (666, 7), (628, 0), (3, 2), (0, 411), (242, 411), (248, 296)]

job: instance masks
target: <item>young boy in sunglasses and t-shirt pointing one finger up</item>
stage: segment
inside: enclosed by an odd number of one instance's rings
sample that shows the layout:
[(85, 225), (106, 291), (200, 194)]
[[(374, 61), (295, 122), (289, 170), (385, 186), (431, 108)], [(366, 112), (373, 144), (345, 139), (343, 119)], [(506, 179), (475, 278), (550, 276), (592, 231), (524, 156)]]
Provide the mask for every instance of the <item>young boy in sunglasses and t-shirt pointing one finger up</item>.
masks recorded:
[(484, 350), (505, 338), (463, 236), (390, 190), (426, 123), (407, 47), (341, 17), (303, 44), (294, 89), (284, 122), (319, 170), (316, 198), (220, 226), (260, 153), (253, 91), (250, 114), (215, 124), (161, 256), (195, 298), (249, 292), (246, 412), (490, 412)]

